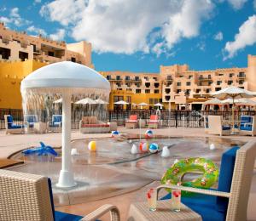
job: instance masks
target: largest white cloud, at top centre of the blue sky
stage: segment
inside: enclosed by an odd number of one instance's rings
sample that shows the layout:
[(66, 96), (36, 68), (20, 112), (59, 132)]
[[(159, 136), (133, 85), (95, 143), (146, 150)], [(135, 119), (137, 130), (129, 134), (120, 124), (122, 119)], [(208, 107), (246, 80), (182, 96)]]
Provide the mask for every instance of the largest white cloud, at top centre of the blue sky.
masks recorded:
[(40, 14), (68, 26), (75, 40), (91, 42), (99, 53), (148, 53), (152, 48), (159, 54), (183, 37), (199, 35), (212, 9), (210, 0), (55, 0), (44, 4)]

